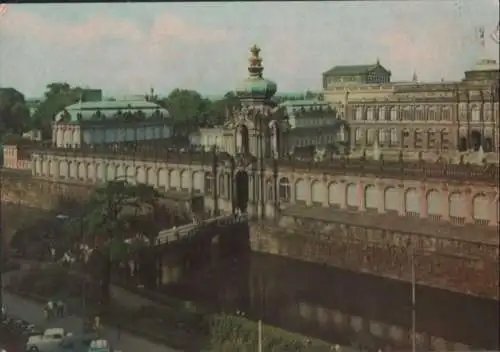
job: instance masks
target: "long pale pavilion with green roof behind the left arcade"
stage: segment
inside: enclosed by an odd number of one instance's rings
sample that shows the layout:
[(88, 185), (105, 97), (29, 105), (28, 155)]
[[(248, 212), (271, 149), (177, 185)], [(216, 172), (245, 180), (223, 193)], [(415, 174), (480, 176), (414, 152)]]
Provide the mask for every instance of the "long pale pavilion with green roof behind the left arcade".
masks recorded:
[(142, 101), (92, 101), (66, 107), (52, 125), (56, 147), (80, 147), (167, 139), (172, 135), (169, 113)]

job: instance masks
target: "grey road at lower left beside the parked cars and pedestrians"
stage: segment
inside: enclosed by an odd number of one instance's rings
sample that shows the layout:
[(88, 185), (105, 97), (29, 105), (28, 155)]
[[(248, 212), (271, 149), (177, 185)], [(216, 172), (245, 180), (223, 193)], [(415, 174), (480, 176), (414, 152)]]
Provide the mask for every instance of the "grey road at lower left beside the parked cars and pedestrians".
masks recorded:
[[(5, 291), (3, 293), (3, 300), (7, 309), (7, 314), (11, 316), (27, 320), (32, 324), (42, 327), (62, 327), (68, 332), (74, 333), (81, 331), (82, 320), (79, 317), (68, 316), (46, 323), (43, 307), (40, 304), (14, 296)], [(106, 338), (116, 346), (116, 350), (123, 352), (178, 352), (170, 347), (155, 344), (126, 332), (122, 332), (120, 340), (118, 340), (117, 331), (112, 327), (104, 326), (103, 332)]]

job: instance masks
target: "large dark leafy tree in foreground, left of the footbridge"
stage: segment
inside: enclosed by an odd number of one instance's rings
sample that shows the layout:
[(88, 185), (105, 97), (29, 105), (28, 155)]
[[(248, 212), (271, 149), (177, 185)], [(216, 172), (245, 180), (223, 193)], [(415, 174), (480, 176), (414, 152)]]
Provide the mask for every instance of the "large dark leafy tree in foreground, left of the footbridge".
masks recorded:
[(134, 250), (127, 239), (141, 232), (148, 243), (154, 242), (159, 231), (154, 225), (159, 197), (152, 186), (126, 181), (109, 181), (92, 195), (82, 222), (87, 244), (94, 248), (102, 273), (103, 304), (109, 302), (112, 264), (123, 261)]

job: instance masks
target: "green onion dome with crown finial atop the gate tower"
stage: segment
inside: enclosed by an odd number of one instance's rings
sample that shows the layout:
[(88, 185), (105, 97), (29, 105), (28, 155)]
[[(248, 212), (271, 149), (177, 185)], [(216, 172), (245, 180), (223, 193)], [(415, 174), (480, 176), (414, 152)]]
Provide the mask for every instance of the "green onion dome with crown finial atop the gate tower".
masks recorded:
[(264, 67), (262, 58), (259, 56), (260, 49), (254, 45), (250, 52), (250, 65), (248, 67), (249, 77), (238, 85), (235, 92), (240, 98), (270, 99), (276, 94), (278, 86), (271, 80), (262, 77)]

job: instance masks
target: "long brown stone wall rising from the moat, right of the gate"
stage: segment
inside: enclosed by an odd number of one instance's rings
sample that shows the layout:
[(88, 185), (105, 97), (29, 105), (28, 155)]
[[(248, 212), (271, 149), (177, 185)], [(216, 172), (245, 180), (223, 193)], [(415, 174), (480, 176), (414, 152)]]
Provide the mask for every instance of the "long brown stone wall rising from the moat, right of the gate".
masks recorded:
[[(316, 226), (321, 223), (315, 221)], [(498, 299), (498, 243), (477, 243), (419, 234), (395, 233), (341, 223), (282, 227), (252, 224), (251, 248), (257, 252), (331, 265), (463, 294)]]

